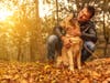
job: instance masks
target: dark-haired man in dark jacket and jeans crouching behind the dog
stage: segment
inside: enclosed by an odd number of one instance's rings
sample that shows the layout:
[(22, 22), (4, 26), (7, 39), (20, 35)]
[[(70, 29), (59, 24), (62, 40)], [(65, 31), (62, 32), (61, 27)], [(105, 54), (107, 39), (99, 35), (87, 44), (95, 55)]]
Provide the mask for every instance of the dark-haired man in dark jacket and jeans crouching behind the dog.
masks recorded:
[[(81, 39), (84, 41), (84, 48), (81, 51), (81, 61), (85, 62), (95, 51), (95, 43), (97, 42), (97, 33), (94, 22), (90, 19), (95, 15), (95, 8), (91, 6), (85, 7), (78, 13), (76, 20), (79, 22), (81, 30)], [(73, 13), (65, 19), (74, 19)], [(50, 35), (47, 39), (47, 58), (51, 61), (55, 60), (55, 52), (61, 54), (63, 42), (70, 46), (69, 41), (65, 38), (66, 31), (63, 29), (61, 23), (58, 27), (54, 28), (54, 34)]]

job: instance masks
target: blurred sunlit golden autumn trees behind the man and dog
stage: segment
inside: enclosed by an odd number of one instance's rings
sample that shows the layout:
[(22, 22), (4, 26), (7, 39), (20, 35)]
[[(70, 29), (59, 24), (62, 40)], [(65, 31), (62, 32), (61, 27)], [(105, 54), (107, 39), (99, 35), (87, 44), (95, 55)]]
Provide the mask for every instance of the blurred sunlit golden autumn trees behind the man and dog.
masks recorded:
[(110, 54), (110, 0), (0, 0), (0, 60), (45, 61), (46, 39), (69, 12), (95, 6), (98, 42), (94, 56)]

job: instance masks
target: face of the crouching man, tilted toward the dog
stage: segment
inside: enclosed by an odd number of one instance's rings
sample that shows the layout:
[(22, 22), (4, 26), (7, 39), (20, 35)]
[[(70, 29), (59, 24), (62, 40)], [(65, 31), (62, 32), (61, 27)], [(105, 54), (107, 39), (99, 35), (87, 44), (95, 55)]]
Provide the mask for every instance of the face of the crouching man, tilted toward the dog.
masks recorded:
[(80, 22), (86, 22), (86, 21), (90, 20), (90, 15), (91, 15), (91, 13), (88, 12), (87, 8), (84, 8), (84, 9), (78, 13), (77, 19), (78, 19), (78, 21), (80, 21)]

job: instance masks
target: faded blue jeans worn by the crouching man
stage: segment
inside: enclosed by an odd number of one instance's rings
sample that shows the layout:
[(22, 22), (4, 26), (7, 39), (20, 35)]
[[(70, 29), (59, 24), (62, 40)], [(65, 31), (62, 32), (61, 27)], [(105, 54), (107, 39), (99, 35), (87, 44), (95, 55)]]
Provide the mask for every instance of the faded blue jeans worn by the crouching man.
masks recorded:
[[(86, 45), (91, 52), (95, 51), (95, 43), (92, 41), (85, 41), (84, 45)], [(63, 42), (62, 40), (55, 35), (52, 34), (47, 38), (46, 42), (46, 49), (47, 49), (47, 59), (48, 60), (55, 60), (57, 54), (62, 53)], [(81, 61), (85, 62), (91, 53), (89, 53), (85, 48), (81, 50)]]

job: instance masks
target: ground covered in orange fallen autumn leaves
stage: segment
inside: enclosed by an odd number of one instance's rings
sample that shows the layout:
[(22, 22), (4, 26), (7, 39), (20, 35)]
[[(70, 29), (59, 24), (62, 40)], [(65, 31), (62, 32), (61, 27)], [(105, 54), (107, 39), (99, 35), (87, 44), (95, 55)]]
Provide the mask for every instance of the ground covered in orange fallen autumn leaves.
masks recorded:
[(110, 58), (86, 62), (74, 72), (38, 61), (0, 62), (0, 83), (110, 83)]

